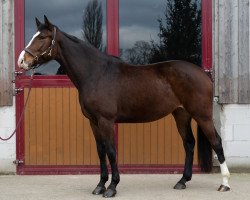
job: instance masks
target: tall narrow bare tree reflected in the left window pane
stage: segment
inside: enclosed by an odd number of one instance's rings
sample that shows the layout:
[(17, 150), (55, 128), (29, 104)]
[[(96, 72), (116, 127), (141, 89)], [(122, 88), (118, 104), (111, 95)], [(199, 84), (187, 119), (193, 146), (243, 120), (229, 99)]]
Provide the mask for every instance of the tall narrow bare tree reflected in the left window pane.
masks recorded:
[(85, 41), (94, 47), (102, 48), (102, 3), (90, 0), (83, 13), (82, 33)]

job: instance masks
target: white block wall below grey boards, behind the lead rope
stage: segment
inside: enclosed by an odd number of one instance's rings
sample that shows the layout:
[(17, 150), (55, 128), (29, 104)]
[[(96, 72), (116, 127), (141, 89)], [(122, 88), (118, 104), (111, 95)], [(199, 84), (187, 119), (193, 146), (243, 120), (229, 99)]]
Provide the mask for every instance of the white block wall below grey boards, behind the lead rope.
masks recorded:
[[(13, 106), (0, 107), (0, 136), (7, 138), (15, 129), (15, 102)], [(16, 137), (9, 141), (0, 140), (0, 173), (15, 172)]]

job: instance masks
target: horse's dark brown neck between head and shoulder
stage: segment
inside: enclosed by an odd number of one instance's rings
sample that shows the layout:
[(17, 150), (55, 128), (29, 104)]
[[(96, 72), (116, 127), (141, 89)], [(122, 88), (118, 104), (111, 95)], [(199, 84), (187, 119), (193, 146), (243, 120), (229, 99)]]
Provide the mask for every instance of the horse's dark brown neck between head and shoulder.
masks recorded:
[(60, 32), (59, 57), (57, 61), (63, 66), (66, 74), (74, 85), (79, 88), (94, 73), (100, 69), (99, 58), (102, 56), (97, 50), (77, 42), (77, 39)]

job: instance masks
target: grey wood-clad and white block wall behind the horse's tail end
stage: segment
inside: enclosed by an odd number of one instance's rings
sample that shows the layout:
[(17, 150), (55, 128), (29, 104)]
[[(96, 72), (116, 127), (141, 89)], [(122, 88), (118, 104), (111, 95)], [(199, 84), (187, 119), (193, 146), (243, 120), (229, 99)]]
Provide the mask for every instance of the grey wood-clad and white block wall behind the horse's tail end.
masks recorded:
[(249, 0), (213, 1), (216, 121), (229, 166), (250, 166)]

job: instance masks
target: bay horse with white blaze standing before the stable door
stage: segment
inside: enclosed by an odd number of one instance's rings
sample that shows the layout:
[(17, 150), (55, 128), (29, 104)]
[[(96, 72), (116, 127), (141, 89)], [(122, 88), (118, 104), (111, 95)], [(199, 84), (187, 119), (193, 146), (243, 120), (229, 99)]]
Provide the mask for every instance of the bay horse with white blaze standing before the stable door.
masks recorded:
[[(62, 32), (46, 16), (44, 23), (36, 18), (36, 25), (37, 33), (20, 53), (18, 65), (30, 70), (56, 60), (77, 88), (81, 110), (90, 121), (100, 159), (100, 182), (93, 194), (113, 197), (120, 181), (114, 124), (151, 122), (170, 113), (186, 153), (183, 176), (174, 188), (185, 189), (192, 177), (195, 139), (190, 124), (193, 118), (218, 156), (223, 180), (218, 190), (230, 190), (230, 173), (212, 118), (212, 82), (200, 67), (185, 61), (129, 65)], [(112, 170), (107, 188), (106, 155)], [(201, 159), (206, 162), (206, 158)]]

